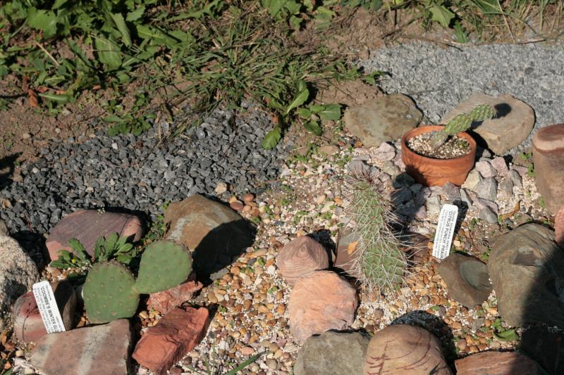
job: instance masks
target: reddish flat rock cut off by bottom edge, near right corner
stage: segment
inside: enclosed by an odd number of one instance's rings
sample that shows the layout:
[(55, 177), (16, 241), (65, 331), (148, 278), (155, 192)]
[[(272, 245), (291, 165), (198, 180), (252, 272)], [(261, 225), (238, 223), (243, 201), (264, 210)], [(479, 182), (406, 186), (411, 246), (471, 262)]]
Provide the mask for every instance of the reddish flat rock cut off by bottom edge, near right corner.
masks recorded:
[(458, 375), (540, 375), (537, 362), (520, 352), (481, 352), (454, 362)]

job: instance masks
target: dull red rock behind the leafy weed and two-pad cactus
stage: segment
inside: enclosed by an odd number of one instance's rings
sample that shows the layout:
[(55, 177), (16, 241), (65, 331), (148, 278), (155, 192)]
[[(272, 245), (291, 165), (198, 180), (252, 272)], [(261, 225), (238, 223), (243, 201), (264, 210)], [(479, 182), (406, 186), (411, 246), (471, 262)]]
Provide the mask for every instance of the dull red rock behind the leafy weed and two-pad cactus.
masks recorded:
[(80, 210), (63, 217), (53, 228), (45, 246), (51, 260), (59, 258), (59, 250), (71, 250), (68, 240), (78, 239), (87, 253), (94, 254), (94, 243), (100, 236), (117, 233), (120, 236), (132, 236), (139, 241), (143, 236), (143, 224), (139, 217), (118, 213), (99, 212), (98, 210)]

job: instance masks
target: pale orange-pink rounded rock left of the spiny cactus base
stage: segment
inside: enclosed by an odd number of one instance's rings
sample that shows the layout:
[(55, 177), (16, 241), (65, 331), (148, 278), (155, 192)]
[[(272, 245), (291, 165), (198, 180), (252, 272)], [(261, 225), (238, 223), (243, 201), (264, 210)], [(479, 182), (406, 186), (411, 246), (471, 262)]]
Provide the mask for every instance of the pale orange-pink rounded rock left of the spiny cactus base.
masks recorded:
[(296, 341), (353, 324), (358, 305), (355, 288), (335, 272), (315, 271), (295, 283), (288, 315)]

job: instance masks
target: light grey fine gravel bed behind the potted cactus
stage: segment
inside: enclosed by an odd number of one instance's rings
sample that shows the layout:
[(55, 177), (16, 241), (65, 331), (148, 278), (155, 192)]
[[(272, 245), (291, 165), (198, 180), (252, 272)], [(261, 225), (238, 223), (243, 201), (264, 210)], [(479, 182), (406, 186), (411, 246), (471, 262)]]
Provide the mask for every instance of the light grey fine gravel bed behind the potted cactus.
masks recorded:
[[(460, 46), (412, 43), (371, 51), (359, 65), (389, 74), (388, 93), (411, 96), (427, 122), (441, 117), (474, 92), (511, 94), (534, 108), (535, 129), (564, 122), (564, 44)], [(527, 148), (531, 136), (520, 148)]]

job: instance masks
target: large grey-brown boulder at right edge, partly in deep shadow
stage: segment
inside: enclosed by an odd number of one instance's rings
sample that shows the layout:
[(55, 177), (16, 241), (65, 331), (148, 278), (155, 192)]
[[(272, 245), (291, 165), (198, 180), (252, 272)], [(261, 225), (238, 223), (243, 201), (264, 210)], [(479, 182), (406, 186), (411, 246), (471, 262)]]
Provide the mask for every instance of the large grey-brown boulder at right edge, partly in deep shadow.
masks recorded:
[(554, 232), (524, 224), (494, 239), (489, 275), (498, 310), (510, 326), (546, 323), (564, 328), (564, 252)]

